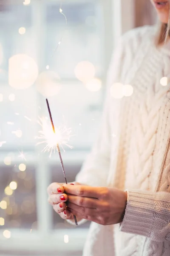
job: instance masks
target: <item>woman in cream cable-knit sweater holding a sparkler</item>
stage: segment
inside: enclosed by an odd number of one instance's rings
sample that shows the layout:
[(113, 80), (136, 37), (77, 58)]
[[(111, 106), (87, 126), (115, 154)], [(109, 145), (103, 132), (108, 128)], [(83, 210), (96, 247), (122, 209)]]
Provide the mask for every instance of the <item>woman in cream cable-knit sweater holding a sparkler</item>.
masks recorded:
[[(169, 3), (152, 3), (159, 35), (142, 27), (123, 36), (109, 70), (101, 133), (77, 183), (48, 187), (62, 218), (92, 221), (83, 256), (170, 255), (170, 86), (160, 84), (170, 73)], [(133, 95), (113, 99), (116, 82), (131, 84)]]

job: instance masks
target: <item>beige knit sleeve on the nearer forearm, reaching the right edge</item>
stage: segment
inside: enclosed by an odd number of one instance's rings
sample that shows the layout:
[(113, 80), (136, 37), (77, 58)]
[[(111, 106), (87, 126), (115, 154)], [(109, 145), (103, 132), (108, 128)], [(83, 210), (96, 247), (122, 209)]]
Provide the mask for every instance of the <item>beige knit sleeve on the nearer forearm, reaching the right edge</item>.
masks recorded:
[(170, 241), (170, 193), (127, 191), (125, 216), (120, 231)]

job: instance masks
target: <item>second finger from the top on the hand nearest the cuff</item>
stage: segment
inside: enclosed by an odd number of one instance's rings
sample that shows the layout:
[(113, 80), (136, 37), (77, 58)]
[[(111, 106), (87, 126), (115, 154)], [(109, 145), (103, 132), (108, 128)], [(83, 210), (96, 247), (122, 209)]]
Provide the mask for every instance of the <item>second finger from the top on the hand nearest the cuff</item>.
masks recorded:
[(68, 202), (87, 208), (99, 207), (99, 200), (96, 198), (85, 198), (76, 195), (68, 195)]

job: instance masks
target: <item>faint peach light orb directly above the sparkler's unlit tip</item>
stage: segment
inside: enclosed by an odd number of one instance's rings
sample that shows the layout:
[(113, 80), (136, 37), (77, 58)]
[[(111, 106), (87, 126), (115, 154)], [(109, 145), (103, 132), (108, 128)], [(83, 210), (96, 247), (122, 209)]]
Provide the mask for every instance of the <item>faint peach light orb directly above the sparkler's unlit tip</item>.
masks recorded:
[(51, 97), (59, 93), (61, 85), (59, 76), (54, 71), (44, 71), (40, 73), (36, 81), (37, 91), (44, 97)]

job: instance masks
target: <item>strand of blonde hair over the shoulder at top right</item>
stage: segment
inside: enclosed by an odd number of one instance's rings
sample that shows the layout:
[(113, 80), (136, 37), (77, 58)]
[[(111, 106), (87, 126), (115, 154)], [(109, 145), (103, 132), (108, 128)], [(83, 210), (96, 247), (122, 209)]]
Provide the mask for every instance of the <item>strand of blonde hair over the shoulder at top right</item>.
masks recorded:
[[(168, 0), (168, 2), (170, 6), (170, 0)], [(170, 16), (167, 24), (165, 23), (160, 24), (158, 37), (156, 38), (156, 44), (157, 45), (164, 44), (169, 38), (169, 36), (170, 36)]]

